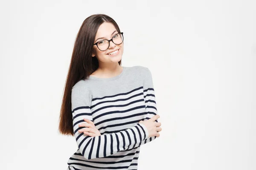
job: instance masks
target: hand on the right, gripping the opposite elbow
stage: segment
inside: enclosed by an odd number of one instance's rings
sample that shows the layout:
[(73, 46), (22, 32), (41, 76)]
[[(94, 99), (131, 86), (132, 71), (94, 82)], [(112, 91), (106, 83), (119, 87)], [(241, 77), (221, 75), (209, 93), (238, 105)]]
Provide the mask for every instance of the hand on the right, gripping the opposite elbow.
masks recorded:
[(160, 118), (160, 116), (154, 115), (153, 117), (151, 117), (150, 119), (145, 119), (144, 121), (141, 120), (139, 123), (145, 125), (148, 129), (148, 137), (152, 137), (152, 136), (160, 136), (160, 132), (162, 130), (161, 123), (160, 122), (154, 122), (155, 120), (157, 120), (158, 118)]

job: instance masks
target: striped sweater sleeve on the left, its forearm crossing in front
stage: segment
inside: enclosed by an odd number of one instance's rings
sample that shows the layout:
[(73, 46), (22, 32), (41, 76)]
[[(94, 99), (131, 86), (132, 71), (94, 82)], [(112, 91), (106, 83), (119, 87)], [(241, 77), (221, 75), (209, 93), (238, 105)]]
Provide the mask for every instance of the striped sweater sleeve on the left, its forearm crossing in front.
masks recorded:
[(130, 146), (139, 144), (148, 138), (147, 128), (140, 123), (118, 133), (95, 137), (80, 133), (78, 130), (84, 127), (79, 127), (79, 124), (82, 122), (87, 123), (84, 118), (93, 121), (90, 105), (90, 92), (73, 87), (71, 92), (73, 130), (78, 149), (85, 159), (107, 157), (119, 151), (127, 150)]

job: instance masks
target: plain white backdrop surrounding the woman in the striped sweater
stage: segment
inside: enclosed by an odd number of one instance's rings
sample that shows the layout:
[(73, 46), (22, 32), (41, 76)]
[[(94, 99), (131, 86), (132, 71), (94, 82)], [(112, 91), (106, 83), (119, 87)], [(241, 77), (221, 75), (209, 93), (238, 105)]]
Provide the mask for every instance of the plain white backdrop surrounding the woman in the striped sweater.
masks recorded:
[(256, 169), (256, 1), (13, 0), (0, 3), (3, 170), (66, 170), (58, 133), (76, 34), (91, 14), (124, 32), (122, 66), (151, 70), (160, 137), (139, 170)]

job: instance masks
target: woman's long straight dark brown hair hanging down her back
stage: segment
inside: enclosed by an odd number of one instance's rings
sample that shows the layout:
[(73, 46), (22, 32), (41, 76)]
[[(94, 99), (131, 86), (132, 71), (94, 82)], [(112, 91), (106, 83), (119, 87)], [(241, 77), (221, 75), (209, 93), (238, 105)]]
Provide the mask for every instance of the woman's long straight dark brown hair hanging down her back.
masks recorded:
[(71, 90), (77, 82), (87, 79), (99, 67), (97, 58), (92, 57), (93, 42), (99, 26), (104, 22), (112, 23), (116, 31), (120, 32), (119, 26), (111, 17), (105, 14), (93, 14), (84, 20), (76, 36), (61, 103), (58, 127), (61, 134), (74, 136)]

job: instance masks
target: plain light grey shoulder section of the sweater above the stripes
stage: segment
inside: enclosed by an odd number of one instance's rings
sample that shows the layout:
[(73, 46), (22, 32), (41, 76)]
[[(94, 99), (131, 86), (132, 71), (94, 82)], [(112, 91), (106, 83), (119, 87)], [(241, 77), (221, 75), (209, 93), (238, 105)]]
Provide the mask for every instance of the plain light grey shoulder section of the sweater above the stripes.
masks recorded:
[(151, 72), (147, 67), (140, 65), (122, 67), (123, 71), (118, 76), (111, 78), (90, 76), (88, 79), (82, 79), (77, 82), (73, 88), (80, 91), (81, 95), (87, 95), (89, 100), (96, 97), (119, 94), (140, 86), (153, 88)]

